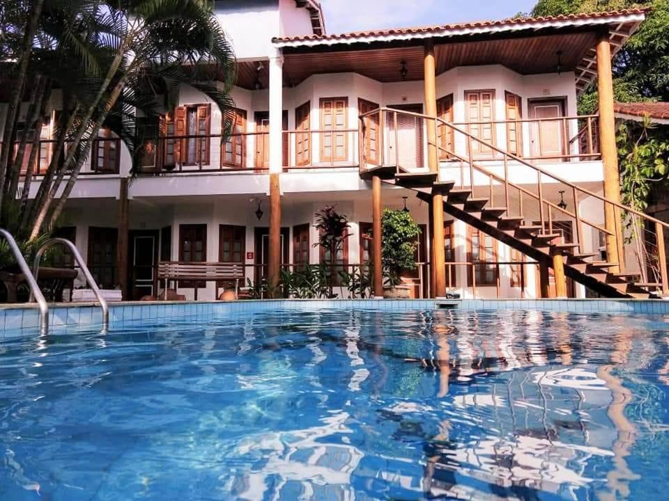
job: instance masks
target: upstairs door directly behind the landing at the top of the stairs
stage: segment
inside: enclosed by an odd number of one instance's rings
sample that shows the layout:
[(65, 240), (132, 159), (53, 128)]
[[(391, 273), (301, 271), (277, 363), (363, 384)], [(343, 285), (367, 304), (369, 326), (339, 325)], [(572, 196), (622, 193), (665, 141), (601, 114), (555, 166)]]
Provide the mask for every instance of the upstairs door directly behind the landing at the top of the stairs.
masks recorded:
[[(392, 104), (390, 108), (410, 113), (422, 113), (422, 104)], [(389, 156), (391, 162), (397, 161), (404, 170), (426, 168), (423, 155), (423, 119), (412, 115), (397, 113), (397, 131), (395, 130), (394, 113), (387, 113), (388, 130), (390, 131)]]

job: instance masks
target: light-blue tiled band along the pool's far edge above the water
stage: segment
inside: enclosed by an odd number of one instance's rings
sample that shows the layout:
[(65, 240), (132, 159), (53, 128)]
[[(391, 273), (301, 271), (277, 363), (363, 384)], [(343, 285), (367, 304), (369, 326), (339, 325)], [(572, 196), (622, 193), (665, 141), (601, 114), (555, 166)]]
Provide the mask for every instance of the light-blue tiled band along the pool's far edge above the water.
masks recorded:
[[(538, 310), (569, 313), (631, 313), (669, 315), (669, 301), (644, 299), (264, 299), (242, 301), (128, 301), (109, 303), (111, 328), (130, 322), (189, 317), (242, 315), (267, 310), (378, 310), (401, 312), (457, 308), (461, 310)], [(50, 326), (102, 326), (97, 303), (49, 305)], [(0, 332), (39, 326), (36, 303), (0, 304)]]

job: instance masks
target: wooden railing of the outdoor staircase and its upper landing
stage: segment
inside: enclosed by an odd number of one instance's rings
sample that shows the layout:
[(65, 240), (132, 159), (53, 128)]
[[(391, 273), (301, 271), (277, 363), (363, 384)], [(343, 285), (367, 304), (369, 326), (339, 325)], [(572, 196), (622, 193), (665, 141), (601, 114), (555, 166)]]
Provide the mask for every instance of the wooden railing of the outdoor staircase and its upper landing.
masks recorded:
[[(406, 164), (403, 165), (401, 162), (403, 158), (401, 152), (398, 150), (389, 152), (386, 146), (392, 136), (395, 137), (394, 144), (399, 145), (397, 124), (406, 122), (406, 116), (414, 120), (422, 120), (423, 130), (426, 130), (427, 127), (436, 127), (440, 131), (440, 134), (437, 134), (438, 144), (434, 146), (440, 152), (440, 157), (449, 160), (448, 167), (442, 166), (439, 169), (440, 180), (454, 181), (456, 186), (470, 189), (472, 197), (487, 196), (489, 207), (504, 207), (507, 216), (521, 216), (528, 224), (540, 225), (542, 234), (557, 232), (564, 235), (564, 228), (568, 223), (575, 230), (576, 234), (571, 237), (575, 237), (573, 241), (578, 244), (581, 254), (599, 250), (597, 242), (602, 238), (615, 237), (619, 260), (616, 264), (620, 267), (620, 272), (626, 269), (626, 242), (636, 244), (638, 247), (636, 268), (643, 283), (649, 289), (669, 294), (664, 239), (665, 234), (669, 231), (667, 223), (565, 180), (531, 163), (528, 159), (503, 150), (494, 143), (484, 141), (468, 130), (445, 120), (422, 113), (390, 108), (380, 108), (362, 114), (360, 116), (363, 136), (360, 142), (361, 170), (378, 165), (394, 165), (398, 171), (407, 170)], [(389, 127), (378, 127), (381, 134), (374, 139), (377, 143), (376, 148), (369, 147), (367, 137), (371, 120), (377, 124), (390, 124)], [(594, 117), (585, 117), (585, 130), (593, 129), (593, 127)], [(582, 131), (583, 127), (578, 130), (578, 133), (581, 134)], [(452, 134), (452, 141), (443, 141), (444, 132)], [(426, 138), (427, 134), (424, 136)], [(576, 136), (579, 137), (578, 134)], [(464, 145), (464, 153), (461, 152), (461, 149), (454, 148), (458, 144)], [(427, 150), (426, 139), (422, 141), (422, 145), (424, 150)], [(411, 148), (417, 147), (412, 146)], [(370, 158), (369, 150), (371, 149), (380, 154)], [(482, 151), (489, 152), (489, 157), (495, 158), (494, 165), (477, 156), (476, 153)], [(421, 167), (425, 165), (426, 162)], [(445, 177), (445, 172), (449, 173), (449, 177)], [(547, 198), (545, 192), (549, 187), (551, 196), (555, 197), (557, 193), (560, 193), (562, 199)], [(565, 194), (566, 197), (564, 197)], [(584, 208), (582, 204), (587, 205)], [(624, 221), (625, 232), (623, 228), (609, 230), (604, 227), (606, 212), (613, 212)], [(590, 244), (590, 248), (586, 248), (586, 242)]]

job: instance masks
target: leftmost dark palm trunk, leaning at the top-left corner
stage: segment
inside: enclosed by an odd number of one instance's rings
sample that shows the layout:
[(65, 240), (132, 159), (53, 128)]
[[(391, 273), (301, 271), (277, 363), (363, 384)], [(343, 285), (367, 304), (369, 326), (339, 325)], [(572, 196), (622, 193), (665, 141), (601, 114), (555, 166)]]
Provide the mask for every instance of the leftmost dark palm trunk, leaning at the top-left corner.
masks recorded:
[[(7, 116), (5, 118), (5, 130), (2, 136), (3, 148), (0, 150), (0, 183), (4, 186), (5, 177), (7, 173), (7, 166), (9, 164), (11, 150), (11, 138), (13, 136), (13, 125), (18, 115), (18, 110), (21, 105), (21, 91), (24, 87), (26, 79), (26, 72), (28, 71), (28, 62), (32, 52), (33, 38), (37, 31), (40, 15), (42, 15), (42, 8), (44, 0), (33, 0), (32, 10), (26, 20), (26, 30), (23, 37), (23, 50), (16, 74), (13, 76), (12, 92), (9, 96), (9, 104), (7, 106)], [(0, 216), (2, 214), (3, 191), (0, 190)]]

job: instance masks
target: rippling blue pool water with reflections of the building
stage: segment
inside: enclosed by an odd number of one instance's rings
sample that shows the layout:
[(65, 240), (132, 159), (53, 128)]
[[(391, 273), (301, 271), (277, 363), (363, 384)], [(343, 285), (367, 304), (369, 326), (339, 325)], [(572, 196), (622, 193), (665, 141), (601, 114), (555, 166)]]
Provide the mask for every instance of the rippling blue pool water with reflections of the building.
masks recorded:
[(280, 310), (0, 338), (0, 499), (667, 499), (668, 321)]

